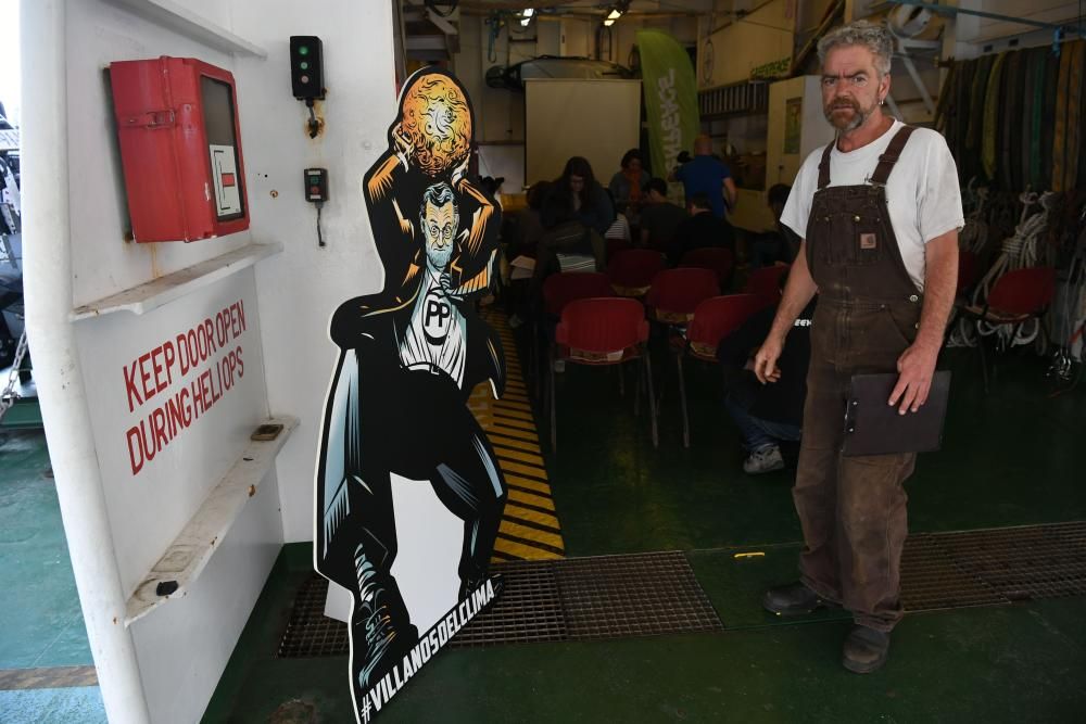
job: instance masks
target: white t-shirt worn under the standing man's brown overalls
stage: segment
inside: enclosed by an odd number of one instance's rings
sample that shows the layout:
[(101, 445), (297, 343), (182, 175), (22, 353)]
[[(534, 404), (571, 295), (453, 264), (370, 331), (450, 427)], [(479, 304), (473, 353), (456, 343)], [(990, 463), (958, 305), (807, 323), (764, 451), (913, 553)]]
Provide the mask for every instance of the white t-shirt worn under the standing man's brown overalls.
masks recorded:
[[(902, 125), (895, 120), (876, 140), (848, 153), (834, 144), (830, 152), (830, 186), (867, 183), (875, 173), (879, 156)], [(818, 190), (818, 165), (824, 148), (807, 156), (781, 215), (781, 221), (801, 239), (807, 237), (807, 218)], [(965, 225), (958, 168), (943, 136), (927, 128), (912, 131), (886, 181), (886, 205), (905, 268), (917, 289), (923, 291), (924, 244)]]

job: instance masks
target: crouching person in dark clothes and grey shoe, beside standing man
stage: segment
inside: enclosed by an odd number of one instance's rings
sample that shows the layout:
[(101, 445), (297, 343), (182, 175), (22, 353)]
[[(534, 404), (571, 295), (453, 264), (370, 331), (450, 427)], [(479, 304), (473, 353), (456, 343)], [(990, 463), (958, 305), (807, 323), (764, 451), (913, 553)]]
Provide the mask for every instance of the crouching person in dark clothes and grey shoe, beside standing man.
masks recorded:
[[(781, 277), (781, 289), (787, 275)], [(788, 332), (778, 370), (768, 384), (754, 374), (754, 355), (769, 334), (776, 306), (758, 312), (742, 327), (720, 341), (717, 359), (727, 371), (728, 396), (724, 407), (743, 435), (747, 458), (743, 471), (748, 474), (784, 468), (781, 443), (799, 440), (807, 398), (807, 366), (810, 363), (810, 326), (816, 295)]]

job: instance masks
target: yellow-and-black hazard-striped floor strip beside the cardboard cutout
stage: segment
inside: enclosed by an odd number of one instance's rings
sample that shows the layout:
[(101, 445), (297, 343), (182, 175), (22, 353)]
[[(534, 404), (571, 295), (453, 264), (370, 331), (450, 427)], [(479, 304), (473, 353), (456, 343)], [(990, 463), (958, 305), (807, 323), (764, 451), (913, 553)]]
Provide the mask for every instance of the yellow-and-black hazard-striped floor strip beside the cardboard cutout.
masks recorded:
[(507, 374), (501, 399), (494, 399), (489, 383), (477, 386), (468, 399), (468, 408), (487, 433), (508, 487), (493, 559), (561, 558), (566, 546), (540, 450), (532, 401), (516, 357), (516, 343), (504, 315), (484, 309), (481, 316), (498, 333)]

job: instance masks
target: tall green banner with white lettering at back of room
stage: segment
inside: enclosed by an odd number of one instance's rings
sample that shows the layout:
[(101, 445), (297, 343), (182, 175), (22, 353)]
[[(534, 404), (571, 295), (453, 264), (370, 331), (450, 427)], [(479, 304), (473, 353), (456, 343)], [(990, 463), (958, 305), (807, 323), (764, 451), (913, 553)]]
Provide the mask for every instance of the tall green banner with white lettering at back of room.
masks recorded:
[(653, 175), (666, 177), (680, 151), (694, 151), (697, 82), (690, 55), (660, 30), (637, 30)]

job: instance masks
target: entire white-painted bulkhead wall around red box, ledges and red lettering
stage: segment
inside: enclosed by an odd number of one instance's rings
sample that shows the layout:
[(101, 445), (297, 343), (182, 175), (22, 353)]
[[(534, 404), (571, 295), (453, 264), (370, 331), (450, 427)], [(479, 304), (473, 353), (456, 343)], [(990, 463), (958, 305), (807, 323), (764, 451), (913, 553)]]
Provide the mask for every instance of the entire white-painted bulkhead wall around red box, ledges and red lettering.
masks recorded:
[[(216, 543), (215, 554), (187, 595), (131, 624), (151, 720), (194, 722), (218, 684), (283, 541), (313, 537), (314, 461), (336, 359), (327, 333), (329, 317), (341, 301), (383, 284), (359, 182), (387, 145), (396, 106), (392, 10), (388, 2), (353, 0), (173, 3), (263, 47), (267, 59), (258, 59), (215, 50), (124, 4), (65, 3), (74, 306), (252, 242), (285, 246), (283, 253), (255, 269), (147, 314), (118, 312), (75, 322), (115, 548), (101, 555), (115, 557), (124, 596), (132, 593), (237, 460), (253, 427), (272, 412), (301, 419), (280, 453), (277, 471), (266, 477), (226, 537)], [(326, 129), (317, 140), (305, 135), (305, 106), (291, 97), (287, 48), (292, 34), (318, 35), (325, 43), (329, 97), (318, 104)], [(111, 61), (160, 55), (197, 58), (233, 73), (249, 231), (190, 244), (124, 241), (124, 181), (103, 69)], [(33, 92), (25, 96), (33, 102)], [(324, 249), (317, 246), (315, 208), (302, 196), (302, 169), (310, 166), (329, 169), (331, 201), (323, 213), (328, 242)], [(173, 379), (161, 397), (132, 410), (125, 367), (236, 303), (244, 306), (247, 319), (245, 330), (233, 340), (244, 347), (243, 380), (134, 474), (126, 430), (191, 383), (192, 373)]]

